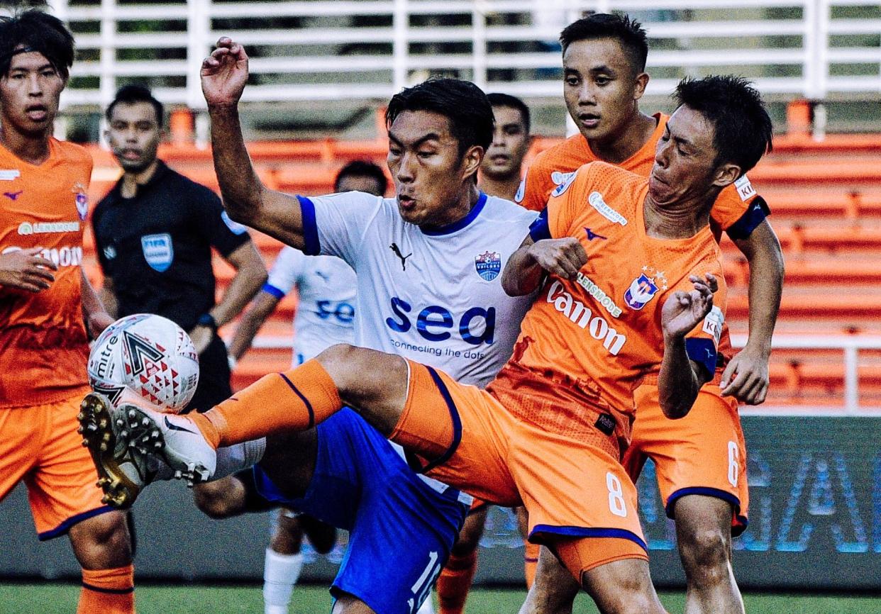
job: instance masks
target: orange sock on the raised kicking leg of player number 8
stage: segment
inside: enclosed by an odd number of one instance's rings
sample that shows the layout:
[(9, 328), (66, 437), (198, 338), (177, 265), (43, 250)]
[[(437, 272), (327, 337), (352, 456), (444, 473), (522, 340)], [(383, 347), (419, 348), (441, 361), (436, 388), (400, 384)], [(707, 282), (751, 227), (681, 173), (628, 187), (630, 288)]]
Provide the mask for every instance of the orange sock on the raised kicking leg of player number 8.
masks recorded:
[(190, 414), (214, 448), (279, 431), (306, 431), (339, 411), (337, 385), (312, 359), (282, 374), (264, 375), (204, 414)]

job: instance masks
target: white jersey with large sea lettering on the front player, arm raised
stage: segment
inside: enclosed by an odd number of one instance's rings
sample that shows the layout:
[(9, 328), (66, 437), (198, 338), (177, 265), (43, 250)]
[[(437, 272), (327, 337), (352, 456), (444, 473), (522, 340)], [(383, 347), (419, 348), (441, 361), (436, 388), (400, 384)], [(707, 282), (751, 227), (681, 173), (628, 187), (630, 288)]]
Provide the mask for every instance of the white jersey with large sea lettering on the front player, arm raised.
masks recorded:
[(507, 259), (537, 217), (481, 194), (463, 219), (425, 232), (395, 198), (300, 196), (307, 254), (337, 255), (358, 278), (355, 344), (485, 387), (510, 358), (533, 296), (501, 287)]

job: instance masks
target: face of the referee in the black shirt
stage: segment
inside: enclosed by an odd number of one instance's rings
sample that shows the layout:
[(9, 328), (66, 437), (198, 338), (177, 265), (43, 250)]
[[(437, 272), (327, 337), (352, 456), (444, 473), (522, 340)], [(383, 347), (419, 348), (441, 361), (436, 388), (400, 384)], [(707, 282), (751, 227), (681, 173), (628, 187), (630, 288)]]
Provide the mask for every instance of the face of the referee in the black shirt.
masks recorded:
[(104, 136), (123, 170), (143, 171), (156, 159), (162, 137), (156, 109), (145, 101), (118, 103)]

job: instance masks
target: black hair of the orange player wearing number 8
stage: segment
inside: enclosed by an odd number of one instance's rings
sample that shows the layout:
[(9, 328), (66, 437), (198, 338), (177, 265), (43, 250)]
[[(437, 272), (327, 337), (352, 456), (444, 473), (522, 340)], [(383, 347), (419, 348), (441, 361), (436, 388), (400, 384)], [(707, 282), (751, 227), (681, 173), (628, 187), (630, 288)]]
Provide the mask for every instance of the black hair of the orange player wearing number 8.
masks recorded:
[(713, 124), (715, 164), (733, 162), (746, 173), (773, 146), (774, 125), (759, 91), (732, 75), (685, 78), (673, 94), (677, 107), (689, 107)]

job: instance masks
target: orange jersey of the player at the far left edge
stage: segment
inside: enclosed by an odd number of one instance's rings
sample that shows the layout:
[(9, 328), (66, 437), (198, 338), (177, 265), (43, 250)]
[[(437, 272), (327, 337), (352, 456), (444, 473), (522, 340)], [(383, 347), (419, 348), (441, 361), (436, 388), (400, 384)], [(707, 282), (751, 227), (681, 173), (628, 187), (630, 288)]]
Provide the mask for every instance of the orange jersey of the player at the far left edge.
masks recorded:
[(92, 164), (54, 138), (39, 166), (0, 145), (0, 253), (39, 247), (58, 266), (48, 290), (0, 287), (0, 407), (53, 403), (87, 382), (80, 263)]

